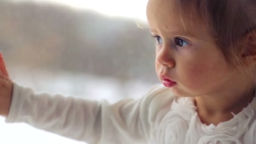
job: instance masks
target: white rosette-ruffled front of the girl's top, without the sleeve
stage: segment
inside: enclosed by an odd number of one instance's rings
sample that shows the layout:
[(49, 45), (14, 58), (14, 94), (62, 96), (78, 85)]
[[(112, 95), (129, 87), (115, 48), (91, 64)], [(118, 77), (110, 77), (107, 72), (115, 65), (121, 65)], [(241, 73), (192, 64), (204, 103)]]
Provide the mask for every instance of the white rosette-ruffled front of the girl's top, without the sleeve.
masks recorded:
[(194, 99), (175, 97), (160, 112), (149, 144), (256, 144), (256, 98), (231, 120), (218, 125), (200, 121)]

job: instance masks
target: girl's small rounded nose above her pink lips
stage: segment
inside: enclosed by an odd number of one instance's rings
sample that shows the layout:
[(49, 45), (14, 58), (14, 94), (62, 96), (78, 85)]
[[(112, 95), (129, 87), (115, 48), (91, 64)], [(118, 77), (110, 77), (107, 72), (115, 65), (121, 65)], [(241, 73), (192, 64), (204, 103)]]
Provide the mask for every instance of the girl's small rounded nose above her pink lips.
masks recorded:
[(171, 46), (163, 45), (162, 48), (157, 50), (156, 51), (156, 62), (163, 66), (169, 67), (169, 68), (174, 67), (175, 61), (173, 59), (173, 56), (172, 56), (173, 52), (171, 49), (172, 49)]

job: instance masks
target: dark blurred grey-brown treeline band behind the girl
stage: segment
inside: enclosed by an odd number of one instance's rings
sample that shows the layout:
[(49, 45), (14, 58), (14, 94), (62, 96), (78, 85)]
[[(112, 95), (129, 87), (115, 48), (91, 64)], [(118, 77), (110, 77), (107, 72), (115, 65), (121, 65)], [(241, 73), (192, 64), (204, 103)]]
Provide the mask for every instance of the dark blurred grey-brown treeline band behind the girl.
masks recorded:
[(53, 4), (0, 0), (0, 52), (8, 67), (154, 83), (154, 43), (135, 19)]

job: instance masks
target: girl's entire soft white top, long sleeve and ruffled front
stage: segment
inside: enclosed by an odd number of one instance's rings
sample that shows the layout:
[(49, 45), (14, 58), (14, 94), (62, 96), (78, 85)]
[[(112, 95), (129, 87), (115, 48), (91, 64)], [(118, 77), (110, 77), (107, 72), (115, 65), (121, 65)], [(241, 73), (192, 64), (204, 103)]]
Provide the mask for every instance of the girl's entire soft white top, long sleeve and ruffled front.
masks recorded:
[(142, 99), (107, 101), (35, 93), (14, 84), (7, 123), (24, 122), (89, 144), (256, 144), (256, 99), (219, 125), (200, 122), (192, 98), (154, 86)]

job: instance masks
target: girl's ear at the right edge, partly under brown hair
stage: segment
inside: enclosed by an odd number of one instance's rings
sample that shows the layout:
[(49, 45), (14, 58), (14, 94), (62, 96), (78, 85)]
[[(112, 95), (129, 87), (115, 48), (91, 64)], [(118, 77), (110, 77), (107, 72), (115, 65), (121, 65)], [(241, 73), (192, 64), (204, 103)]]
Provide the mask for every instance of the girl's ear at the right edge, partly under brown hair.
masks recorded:
[(246, 67), (256, 65), (256, 30), (246, 35), (240, 58)]

